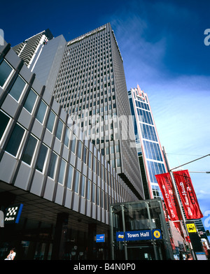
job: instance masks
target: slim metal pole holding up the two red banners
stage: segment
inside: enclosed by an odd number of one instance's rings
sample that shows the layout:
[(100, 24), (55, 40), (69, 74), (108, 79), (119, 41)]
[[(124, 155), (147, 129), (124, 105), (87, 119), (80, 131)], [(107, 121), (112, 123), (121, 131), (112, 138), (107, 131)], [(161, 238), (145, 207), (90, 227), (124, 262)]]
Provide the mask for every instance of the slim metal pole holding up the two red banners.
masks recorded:
[[(165, 155), (165, 161), (167, 163), (167, 168), (169, 170), (170, 177), (172, 179), (172, 185), (174, 186), (174, 191), (175, 191), (176, 199), (177, 199), (177, 201), (179, 203), (179, 209), (180, 209), (180, 212), (181, 212), (181, 217), (183, 219), (183, 226), (184, 226), (184, 229), (186, 230), (186, 235), (189, 237), (188, 229), (187, 229), (187, 226), (186, 226), (186, 217), (183, 214), (183, 209), (182, 209), (182, 206), (181, 206), (181, 201), (179, 200), (179, 194), (178, 194), (177, 189), (176, 189), (176, 182), (174, 181), (174, 176), (173, 176), (173, 173), (172, 173), (172, 169), (174, 169), (174, 168), (170, 169), (170, 167), (169, 167), (169, 161), (167, 159), (167, 154), (165, 152), (165, 147), (162, 147), (162, 150), (163, 150), (163, 153)], [(181, 226), (181, 229), (182, 229), (182, 226)], [(183, 235), (185, 235), (185, 234), (183, 233)], [(186, 243), (186, 238), (184, 238), (184, 241)], [(186, 243), (186, 245), (187, 245), (187, 243)], [(192, 248), (191, 245), (190, 245), (190, 248), (191, 248), (191, 251), (192, 251), (192, 254), (193, 254), (193, 259), (196, 260), (195, 254), (193, 252), (193, 248)]]

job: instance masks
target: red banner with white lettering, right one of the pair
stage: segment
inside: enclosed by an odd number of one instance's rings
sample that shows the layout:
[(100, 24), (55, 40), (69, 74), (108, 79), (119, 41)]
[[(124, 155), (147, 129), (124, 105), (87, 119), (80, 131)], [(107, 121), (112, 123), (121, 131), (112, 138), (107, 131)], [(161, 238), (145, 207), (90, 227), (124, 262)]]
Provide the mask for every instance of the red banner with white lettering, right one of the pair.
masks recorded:
[(187, 219), (202, 218), (203, 215), (188, 170), (174, 171), (173, 174)]

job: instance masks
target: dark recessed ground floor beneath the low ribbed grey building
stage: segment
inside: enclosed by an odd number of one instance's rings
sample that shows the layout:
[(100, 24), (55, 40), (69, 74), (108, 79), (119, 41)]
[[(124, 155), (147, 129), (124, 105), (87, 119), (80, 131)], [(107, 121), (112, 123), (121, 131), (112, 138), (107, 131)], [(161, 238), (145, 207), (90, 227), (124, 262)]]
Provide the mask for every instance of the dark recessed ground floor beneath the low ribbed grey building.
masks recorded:
[[(18, 223), (6, 216), (22, 205)], [(109, 225), (0, 182), (0, 260), (15, 247), (15, 260), (110, 259)], [(19, 211), (20, 212), (20, 211)], [(9, 217), (10, 216), (10, 217)], [(97, 243), (96, 236), (104, 241)]]

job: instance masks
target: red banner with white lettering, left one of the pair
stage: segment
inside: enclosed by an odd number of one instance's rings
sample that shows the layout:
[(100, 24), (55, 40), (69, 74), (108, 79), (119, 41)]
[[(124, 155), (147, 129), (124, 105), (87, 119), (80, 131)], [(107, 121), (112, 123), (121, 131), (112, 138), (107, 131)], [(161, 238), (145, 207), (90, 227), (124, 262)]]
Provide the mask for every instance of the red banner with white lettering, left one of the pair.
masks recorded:
[(163, 199), (165, 201), (165, 206), (169, 217), (172, 221), (178, 221), (181, 219), (181, 212), (179, 210), (179, 204), (176, 199), (176, 194), (174, 192), (174, 187), (172, 185), (172, 179), (169, 173), (163, 173), (155, 175), (160, 190), (162, 192)]

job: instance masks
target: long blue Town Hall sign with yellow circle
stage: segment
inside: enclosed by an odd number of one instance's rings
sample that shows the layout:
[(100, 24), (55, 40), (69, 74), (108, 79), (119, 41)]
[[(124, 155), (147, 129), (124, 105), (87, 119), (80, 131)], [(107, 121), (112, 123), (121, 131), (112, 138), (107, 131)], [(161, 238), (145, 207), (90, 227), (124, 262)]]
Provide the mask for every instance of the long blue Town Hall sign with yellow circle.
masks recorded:
[(125, 231), (116, 233), (116, 240), (122, 242), (124, 240), (152, 240), (152, 239), (162, 239), (162, 234), (160, 229), (151, 230), (139, 230), (139, 231)]

